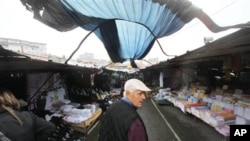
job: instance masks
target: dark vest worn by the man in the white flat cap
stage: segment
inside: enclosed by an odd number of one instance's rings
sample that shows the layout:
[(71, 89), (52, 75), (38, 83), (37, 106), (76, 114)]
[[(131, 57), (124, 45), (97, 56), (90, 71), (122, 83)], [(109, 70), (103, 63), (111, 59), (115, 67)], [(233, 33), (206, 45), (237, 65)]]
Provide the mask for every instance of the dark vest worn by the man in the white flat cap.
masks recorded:
[(130, 132), (131, 127), (138, 125), (141, 125), (140, 132), (143, 132), (139, 135), (144, 136), (138, 138), (147, 140), (146, 128), (136, 108), (123, 100), (113, 103), (101, 117), (100, 123), (99, 141), (128, 141), (129, 138), (135, 136), (133, 132)]

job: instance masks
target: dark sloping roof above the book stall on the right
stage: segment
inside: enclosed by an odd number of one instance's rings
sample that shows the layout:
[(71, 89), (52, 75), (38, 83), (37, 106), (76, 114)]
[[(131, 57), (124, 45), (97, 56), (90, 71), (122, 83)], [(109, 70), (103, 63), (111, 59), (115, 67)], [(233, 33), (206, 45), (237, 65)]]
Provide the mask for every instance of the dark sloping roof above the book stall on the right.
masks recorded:
[(188, 51), (187, 53), (161, 62), (146, 69), (159, 69), (174, 65), (185, 65), (201, 62), (220, 61), (225, 56), (237, 54), (246, 54), (250, 52), (250, 29), (241, 29), (228, 36), (220, 38), (214, 42), (207, 43), (204, 46)]

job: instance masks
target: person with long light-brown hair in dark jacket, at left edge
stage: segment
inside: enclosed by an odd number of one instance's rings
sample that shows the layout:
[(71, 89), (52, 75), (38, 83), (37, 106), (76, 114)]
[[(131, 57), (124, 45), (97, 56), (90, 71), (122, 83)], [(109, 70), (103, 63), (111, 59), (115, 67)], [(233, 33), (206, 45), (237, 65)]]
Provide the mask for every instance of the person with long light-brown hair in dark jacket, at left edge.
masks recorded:
[(55, 125), (29, 111), (7, 89), (0, 88), (0, 131), (12, 141), (46, 141)]

